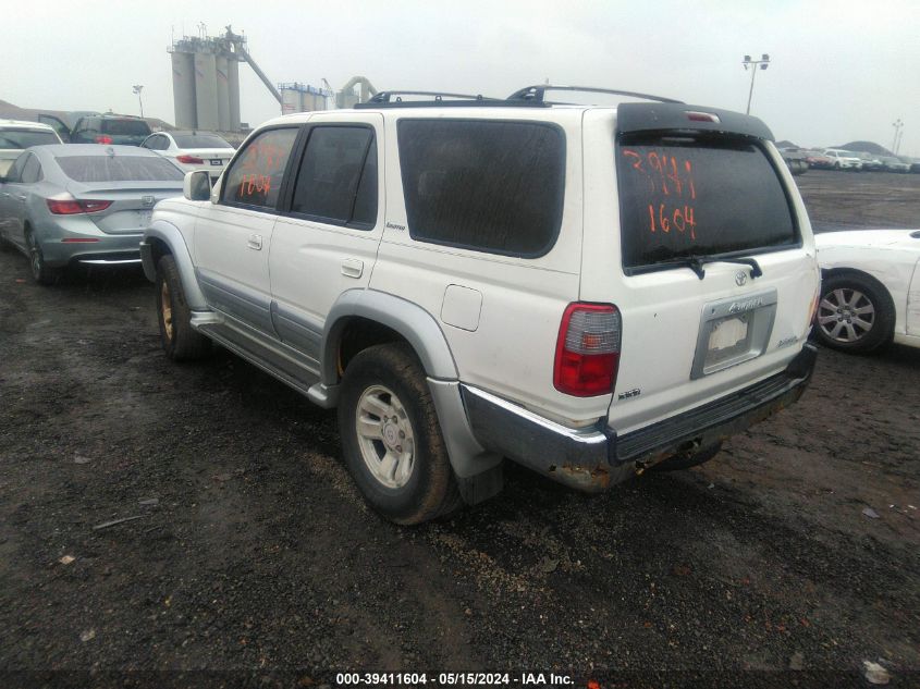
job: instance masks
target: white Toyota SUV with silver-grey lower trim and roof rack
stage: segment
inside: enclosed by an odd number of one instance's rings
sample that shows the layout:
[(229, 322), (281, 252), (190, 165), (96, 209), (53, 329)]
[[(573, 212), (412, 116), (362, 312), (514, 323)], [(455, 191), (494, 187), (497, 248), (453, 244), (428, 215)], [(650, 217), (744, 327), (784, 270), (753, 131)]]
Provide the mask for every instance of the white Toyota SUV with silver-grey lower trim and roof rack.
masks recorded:
[(797, 399), (819, 273), (766, 126), (550, 88), (286, 115), (186, 175), (142, 243), (169, 356), (213, 341), (338, 406), (401, 524), (494, 495), (504, 457), (598, 491)]

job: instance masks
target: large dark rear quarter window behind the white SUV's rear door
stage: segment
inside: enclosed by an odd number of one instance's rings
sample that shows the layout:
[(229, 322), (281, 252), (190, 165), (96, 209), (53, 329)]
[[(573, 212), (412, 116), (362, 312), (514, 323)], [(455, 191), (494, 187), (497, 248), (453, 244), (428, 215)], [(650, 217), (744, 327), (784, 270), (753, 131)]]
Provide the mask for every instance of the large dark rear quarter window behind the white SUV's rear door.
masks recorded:
[(398, 147), (414, 239), (506, 256), (550, 250), (565, 192), (565, 142), (557, 127), (403, 120)]

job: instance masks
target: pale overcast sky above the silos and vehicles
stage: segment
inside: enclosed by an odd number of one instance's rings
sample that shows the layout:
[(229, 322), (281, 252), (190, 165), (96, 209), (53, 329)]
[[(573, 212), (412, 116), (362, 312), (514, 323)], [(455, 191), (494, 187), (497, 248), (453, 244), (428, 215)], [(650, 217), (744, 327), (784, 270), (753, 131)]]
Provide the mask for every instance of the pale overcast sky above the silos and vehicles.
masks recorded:
[[(744, 111), (745, 54), (769, 53), (751, 113), (805, 146), (872, 140), (920, 157), (917, 0), (44, 0), (16, 3), (0, 42), (0, 99), (26, 108), (174, 121), (173, 36), (228, 24), (273, 82), (507, 96), (549, 78)], [(241, 65), (242, 119), (278, 102)]]

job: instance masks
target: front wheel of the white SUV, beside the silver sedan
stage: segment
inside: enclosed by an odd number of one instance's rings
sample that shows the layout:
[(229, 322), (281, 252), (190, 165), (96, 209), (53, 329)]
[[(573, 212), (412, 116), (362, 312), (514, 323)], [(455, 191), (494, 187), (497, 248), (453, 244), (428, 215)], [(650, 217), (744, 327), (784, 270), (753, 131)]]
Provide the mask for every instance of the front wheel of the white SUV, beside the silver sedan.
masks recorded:
[(157, 317), (160, 342), (173, 361), (200, 359), (210, 353), (211, 341), (192, 328), (192, 310), (170, 254), (157, 263)]

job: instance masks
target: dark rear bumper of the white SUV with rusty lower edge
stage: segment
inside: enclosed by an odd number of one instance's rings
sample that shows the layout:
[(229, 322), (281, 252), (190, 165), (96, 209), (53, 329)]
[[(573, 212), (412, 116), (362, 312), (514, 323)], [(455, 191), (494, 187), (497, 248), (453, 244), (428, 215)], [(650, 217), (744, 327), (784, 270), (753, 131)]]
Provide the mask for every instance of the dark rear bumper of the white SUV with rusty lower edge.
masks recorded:
[(479, 443), (543, 476), (586, 492), (603, 491), (645, 467), (719, 443), (796, 402), (814, 370), (806, 344), (781, 373), (637, 431), (617, 435), (603, 422), (571, 429), (488, 392), (462, 385)]

